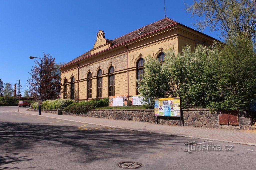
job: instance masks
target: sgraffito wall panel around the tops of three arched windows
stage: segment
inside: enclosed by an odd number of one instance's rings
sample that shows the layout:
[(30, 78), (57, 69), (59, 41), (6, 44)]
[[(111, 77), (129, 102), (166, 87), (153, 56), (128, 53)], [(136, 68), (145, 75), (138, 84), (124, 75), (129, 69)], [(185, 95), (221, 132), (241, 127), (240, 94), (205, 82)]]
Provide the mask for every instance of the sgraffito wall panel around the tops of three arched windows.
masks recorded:
[(107, 73), (108, 72), (107, 68), (110, 62), (112, 62), (115, 65), (116, 67), (115, 71), (127, 69), (127, 54), (114, 57), (109, 60), (105, 60), (96, 64), (92, 64), (90, 66), (79, 68), (79, 80), (86, 78), (86, 73), (88, 69), (90, 69), (90, 71), (93, 73), (93, 76), (95, 76), (95, 72), (99, 68), (99, 66), (103, 69), (104, 73)]

